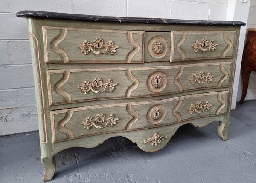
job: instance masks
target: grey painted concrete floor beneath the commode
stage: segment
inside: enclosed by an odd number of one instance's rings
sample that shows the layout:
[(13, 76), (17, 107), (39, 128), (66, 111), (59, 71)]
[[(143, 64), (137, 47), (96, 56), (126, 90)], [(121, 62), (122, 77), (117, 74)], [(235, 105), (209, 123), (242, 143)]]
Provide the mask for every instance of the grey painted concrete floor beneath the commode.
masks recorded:
[[(50, 183), (256, 183), (256, 100), (237, 104), (229, 140), (218, 122), (180, 127), (169, 144), (143, 152), (114, 137), (93, 148), (56, 154)], [(0, 183), (43, 182), (38, 133), (0, 137)]]

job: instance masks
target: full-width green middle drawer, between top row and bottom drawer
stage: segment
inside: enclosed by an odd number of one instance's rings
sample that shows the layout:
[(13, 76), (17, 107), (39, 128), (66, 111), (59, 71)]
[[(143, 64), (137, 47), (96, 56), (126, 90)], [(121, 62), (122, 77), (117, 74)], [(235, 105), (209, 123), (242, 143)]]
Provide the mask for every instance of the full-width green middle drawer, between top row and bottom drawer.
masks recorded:
[(231, 64), (51, 70), (49, 105), (228, 87)]

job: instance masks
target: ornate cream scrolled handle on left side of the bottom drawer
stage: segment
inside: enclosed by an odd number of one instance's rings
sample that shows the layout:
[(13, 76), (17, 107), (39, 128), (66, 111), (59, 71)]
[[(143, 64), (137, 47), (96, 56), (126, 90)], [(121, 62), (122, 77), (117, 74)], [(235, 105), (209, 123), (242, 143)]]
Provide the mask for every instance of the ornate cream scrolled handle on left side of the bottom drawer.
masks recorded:
[[(99, 113), (95, 116), (95, 118), (92, 117), (86, 117), (86, 120), (81, 123), (81, 125), (84, 125), (84, 128), (87, 128), (88, 130), (90, 127), (95, 126), (97, 129), (103, 129), (108, 124), (111, 126), (114, 126), (116, 124), (116, 121), (119, 120), (118, 117), (114, 117), (113, 114), (110, 114), (108, 118), (105, 118), (105, 115), (102, 113)], [(105, 123), (105, 125), (97, 125), (97, 123)]]

